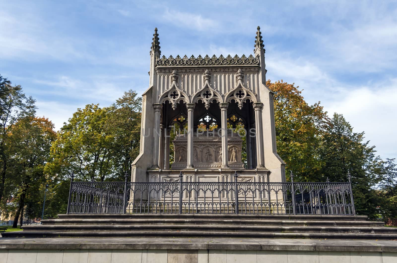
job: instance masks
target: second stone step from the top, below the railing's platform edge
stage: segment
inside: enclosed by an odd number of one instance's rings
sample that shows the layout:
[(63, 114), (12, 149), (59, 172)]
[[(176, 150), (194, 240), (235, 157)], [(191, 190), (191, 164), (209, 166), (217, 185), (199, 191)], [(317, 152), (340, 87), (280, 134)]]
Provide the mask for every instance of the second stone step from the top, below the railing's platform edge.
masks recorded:
[(314, 221), (314, 220), (260, 220), (260, 219), (177, 219), (177, 218), (147, 218), (147, 219), (46, 219), (43, 225), (266, 225), (266, 226), (352, 226), (352, 227), (384, 227), (378, 221)]

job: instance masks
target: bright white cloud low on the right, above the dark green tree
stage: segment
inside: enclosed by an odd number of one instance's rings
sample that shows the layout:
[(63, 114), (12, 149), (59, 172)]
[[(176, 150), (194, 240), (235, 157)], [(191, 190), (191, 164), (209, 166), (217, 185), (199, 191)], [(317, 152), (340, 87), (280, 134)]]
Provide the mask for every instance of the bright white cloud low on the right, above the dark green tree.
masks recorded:
[(365, 132), (382, 158), (397, 158), (397, 78), (376, 87), (349, 87), (337, 99), (323, 103), (324, 109), (343, 114), (355, 132)]

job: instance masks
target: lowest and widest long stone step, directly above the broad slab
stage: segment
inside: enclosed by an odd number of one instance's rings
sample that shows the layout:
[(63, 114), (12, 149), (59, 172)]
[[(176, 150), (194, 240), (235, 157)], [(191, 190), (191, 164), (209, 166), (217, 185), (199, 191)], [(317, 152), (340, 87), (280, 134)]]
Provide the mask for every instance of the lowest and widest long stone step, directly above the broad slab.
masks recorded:
[(237, 237), (237, 238), (337, 238), (337, 239), (387, 239), (395, 240), (396, 234), (379, 233), (278, 233), (262, 231), (14, 231), (2, 233), (4, 237)]

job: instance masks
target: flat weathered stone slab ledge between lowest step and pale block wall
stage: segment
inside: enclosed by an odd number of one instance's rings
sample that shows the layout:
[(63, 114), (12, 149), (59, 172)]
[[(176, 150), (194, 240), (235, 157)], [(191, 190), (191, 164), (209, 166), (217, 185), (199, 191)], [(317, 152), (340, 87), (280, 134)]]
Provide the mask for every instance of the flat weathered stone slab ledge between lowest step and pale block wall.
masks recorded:
[(0, 238), (0, 249), (183, 249), (397, 252), (397, 240), (274, 238)]

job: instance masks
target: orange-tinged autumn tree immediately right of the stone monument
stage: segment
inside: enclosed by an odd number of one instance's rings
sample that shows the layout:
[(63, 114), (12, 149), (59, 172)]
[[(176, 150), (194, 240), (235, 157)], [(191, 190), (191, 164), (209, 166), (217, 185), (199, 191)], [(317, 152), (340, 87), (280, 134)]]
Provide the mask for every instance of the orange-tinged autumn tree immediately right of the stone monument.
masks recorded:
[(286, 163), (286, 174), (297, 181), (322, 181), (319, 157), (321, 135), (328, 122), (320, 102), (308, 105), (299, 86), (283, 80), (266, 85), (274, 92), (277, 150)]

